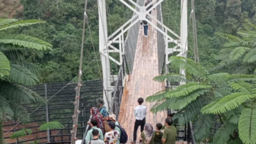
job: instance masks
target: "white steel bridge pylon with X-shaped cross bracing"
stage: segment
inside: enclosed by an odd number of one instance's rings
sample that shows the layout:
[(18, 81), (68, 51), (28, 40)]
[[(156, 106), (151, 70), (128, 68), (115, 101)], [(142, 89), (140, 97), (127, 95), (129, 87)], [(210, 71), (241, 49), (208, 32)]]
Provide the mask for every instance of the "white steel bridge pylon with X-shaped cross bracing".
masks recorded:
[[(133, 5), (129, 5), (127, 3), (129, 1)], [(144, 1), (144, 0), (137, 0)], [(111, 75), (110, 75), (110, 60), (115, 62), (117, 65), (122, 65), (122, 56), (125, 52), (124, 45), (124, 34), (126, 31), (130, 30), (134, 24), (137, 24), (139, 21), (147, 21), (152, 27), (161, 32), (165, 36), (165, 64), (168, 66), (170, 61), (168, 60), (168, 56), (171, 53), (179, 52), (178, 56), (187, 57), (187, 0), (181, 0), (181, 35), (175, 34), (173, 30), (166, 27), (162, 21), (158, 21), (157, 18), (154, 18), (149, 11), (152, 11), (158, 5), (161, 5), (162, 2), (168, 0), (152, 0), (149, 5), (140, 6), (133, 0), (120, 0), (123, 5), (126, 5), (127, 8), (133, 11), (133, 18), (130, 18), (129, 21), (126, 21), (123, 26), (121, 26), (118, 30), (107, 36), (107, 14), (106, 14), (106, 0), (98, 0), (98, 11), (99, 11), (99, 41), (100, 41), (100, 53), (101, 53), (101, 64), (103, 70), (103, 81), (104, 81), (104, 94), (108, 94), (109, 98), (104, 97), (105, 104), (110, 103), (111, 97), (110, 92), (114, 91), (114, 87), (110, 85), (111, 83)], [(152, 8), (149, 6), (152, 5)], [(134, 8), (136, 7), (136, 8)], [(149, 10), (146, 10), (149, 8)], [(138, 11), (136, 10), (138, 9)], [(146, 15), (149, 15), (152, 20), (156, 21), (157, 24), (153, 24), (152, 21), (146, 19)], [(162, 29), (157, 27), (160, 24)], [(118, 43), (119, 48), (115, 47), (113, 44)], [(175, 43), (176, 46), (173, 48), (168, 47), (168, 43)], [(114, 59), (114, 57), (110, 56), (110, 53), (119, 53), (120, 59)], [(184, 70), (181, 69), (181, 74), (184, 74)]]

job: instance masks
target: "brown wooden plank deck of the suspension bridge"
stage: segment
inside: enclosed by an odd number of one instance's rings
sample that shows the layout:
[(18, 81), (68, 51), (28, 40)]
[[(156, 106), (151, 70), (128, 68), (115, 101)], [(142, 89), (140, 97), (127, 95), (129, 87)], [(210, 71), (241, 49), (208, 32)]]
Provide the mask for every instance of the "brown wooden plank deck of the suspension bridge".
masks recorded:
[[(156, 11), (152, 11), (156, 18)], [(155, 23), (155, 21), (152, 21)], [(133, 108), (138, 105), (137, 99), (146, 99), (149, 95), (155, 94), (165, 88), (162, 83), (154, 82), (152, 79), (158, 75), (158, 50), (157, 50), (157, 30), (149, 25), (149, 34), (145, 38), (143, 30), (139, 30), (139, 37), (136, 47), (136, 55), (133, 65), (133, 73), (126, 81), (121, 103), (119, 121), (126, 130), (129, 140), (133, 139), (133, 126), (135, 117)], [(147, 107), (146, 123), (151, 123), (155, 129), (156, 123), (164, 123), (166, 113), (157, 115), (150, 112), (153, 104), (144, 102)], [(140, 130), (137, 134), (140, 136)], [(137, 139), (138, 140), (138, 139)]]

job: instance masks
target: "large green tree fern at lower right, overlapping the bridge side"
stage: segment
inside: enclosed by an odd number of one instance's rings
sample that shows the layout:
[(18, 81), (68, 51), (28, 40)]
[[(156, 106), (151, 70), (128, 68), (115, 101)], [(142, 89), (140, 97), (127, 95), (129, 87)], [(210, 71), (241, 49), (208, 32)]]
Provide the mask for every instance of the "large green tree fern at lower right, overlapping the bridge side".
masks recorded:
[[(185, 69), (187, 78), (184, 75), (168, 74), (157, 76), (154, 80), (187, 83), (146, 98), (146, 101), (155, 102), (151, 109), (153, 112), (177, 110), (173, 118), (181, 124), (197, 120), (194, 131), (197, 141), (210, 135), (215, 115), (218, 115), (222, 127), (213, 137), (213, 143), (228, 142), (231, 140), (229, 135), (234, 140), (241, 139), (245, 144), (256, 142), (255, 75), (210, 74), (199, 63), (182, 57), (171, 57), (171, 63), (174, 67)], [(238, 137), (233, 135), (235, 130), (239, 132)]]

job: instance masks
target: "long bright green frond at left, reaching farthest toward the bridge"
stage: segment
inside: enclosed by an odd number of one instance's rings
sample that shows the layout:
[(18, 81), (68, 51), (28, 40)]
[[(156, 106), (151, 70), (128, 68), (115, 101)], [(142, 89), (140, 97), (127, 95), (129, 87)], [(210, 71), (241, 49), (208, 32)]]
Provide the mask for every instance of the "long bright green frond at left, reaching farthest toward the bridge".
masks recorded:
[(0, 43), (9, 43), (34, 50), (52, 50), (53, 47), (50, 43), (24, 34), (2, 34), (0, 35)]

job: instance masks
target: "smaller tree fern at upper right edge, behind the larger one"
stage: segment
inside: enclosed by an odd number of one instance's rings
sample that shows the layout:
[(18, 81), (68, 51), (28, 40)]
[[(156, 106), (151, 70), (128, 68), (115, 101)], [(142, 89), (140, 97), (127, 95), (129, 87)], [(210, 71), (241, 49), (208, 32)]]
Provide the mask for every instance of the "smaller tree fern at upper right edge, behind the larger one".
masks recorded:
[(247, 21), (245, 30), (239, 30), (237, 34), (219, 34), (228, 42), (216, 56), (219, 64), (212, 71), (242, 74), (256, 72), (256, 25)]

